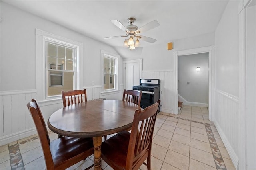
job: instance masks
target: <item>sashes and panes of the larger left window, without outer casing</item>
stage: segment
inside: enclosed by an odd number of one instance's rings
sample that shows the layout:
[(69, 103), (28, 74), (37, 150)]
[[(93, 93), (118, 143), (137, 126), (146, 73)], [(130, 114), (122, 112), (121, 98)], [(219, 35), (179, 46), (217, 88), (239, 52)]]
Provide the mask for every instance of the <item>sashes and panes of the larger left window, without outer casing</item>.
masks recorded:
[(45, 41), (46, 96), (74, 90), (76, 84), (76, 47), (54, 40)]

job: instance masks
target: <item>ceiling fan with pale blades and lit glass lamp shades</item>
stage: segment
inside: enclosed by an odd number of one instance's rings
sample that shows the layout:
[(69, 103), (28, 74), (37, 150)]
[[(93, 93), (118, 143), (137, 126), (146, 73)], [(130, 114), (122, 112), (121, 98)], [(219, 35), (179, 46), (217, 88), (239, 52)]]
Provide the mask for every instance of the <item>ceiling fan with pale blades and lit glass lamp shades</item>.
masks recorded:
[[(158, 27), (160, 24), (156, 20), (147, 23), (146, 25), (140, 27), (139, 29), (138, 29), (138, 27), (136, 25), (133, 25), (133, 23), (136, 21), (136, 19), (133, 18), (133, 17), (130, 17), (130, 18), (127, 19), (128, 23), (130, 23), (130, 25), (128, 25), (127, 27), (125, 27), (118, 20), (110, 20), (110, 21), (112, 23), (114, 23), (114, 25), (116, 25), (118, 28), (120, 28), (123, 31), (125, 31), (125, 35), (119, 35), (119, 36), (114, 36), (114, 37), (106, 37), (104, 39), (112, 39), (112, 38), (119, 38), (119, 37), (129, 37), (128, 42), (127, 42), (127, 39), (124, 41), (124, 47), (129, 47), (129, 45), (130, 45), (130, 49), (131, 50), (135, 49), (135, 47), (138, 47), (138, 45), (139, 45), (138, 39), (141, 39), (141, 40), (149, 42), (149, 43), (156, 42), (156, 39), (153, 39), (153, 38), (150, 38), (150, 37), (146, 37), (146, 36), (142, 36), (142, 35), (138, 35), (141, 32), (146, 32), (146, 31), (148, 31), (150, 29)], [(134, 40), (133, 38), (137, 39), (135, 43), (133, 41)]]

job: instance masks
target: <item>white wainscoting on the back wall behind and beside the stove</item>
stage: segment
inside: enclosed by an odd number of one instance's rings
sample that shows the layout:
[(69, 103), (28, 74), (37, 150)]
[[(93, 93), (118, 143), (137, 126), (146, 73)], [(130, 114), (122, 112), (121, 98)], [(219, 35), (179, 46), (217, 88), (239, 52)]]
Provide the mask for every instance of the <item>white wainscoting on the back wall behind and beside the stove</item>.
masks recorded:
[[(160, 79), (160, 111), (173, 113), (173, 71), (143, 71), (142, 78), (144, 79)], [(178, 106), (177, 106), (178, 107)]]

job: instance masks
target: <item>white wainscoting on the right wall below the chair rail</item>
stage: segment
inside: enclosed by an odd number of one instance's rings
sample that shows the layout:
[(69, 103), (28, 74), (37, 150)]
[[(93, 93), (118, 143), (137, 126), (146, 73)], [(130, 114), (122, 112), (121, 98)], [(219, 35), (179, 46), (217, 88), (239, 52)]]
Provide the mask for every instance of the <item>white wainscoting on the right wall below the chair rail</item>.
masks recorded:
[(238, 98), (226, 92), (215, 90), (214, 111), (214, 124), (237, 169), (239, 155)]

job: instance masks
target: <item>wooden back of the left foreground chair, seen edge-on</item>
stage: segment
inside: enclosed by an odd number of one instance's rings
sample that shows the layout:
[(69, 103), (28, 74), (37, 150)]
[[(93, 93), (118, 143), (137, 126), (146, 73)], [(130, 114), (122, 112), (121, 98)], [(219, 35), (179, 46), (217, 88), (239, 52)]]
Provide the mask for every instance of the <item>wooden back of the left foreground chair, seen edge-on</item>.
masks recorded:
[(42, 145), (42, 150), (44, 153), (45, 163), (47, 165), (47, 169), (53, 169), (54, 163), (52, 160), (52, 154), (50, 151), (50, 138), (48, 135), (48, 131), (45, 125), (44, 118), (42, 116), (42, 112), (40, 107), (38, 106), (36, 99), (32, 99), (31, 102), (27, 104), (28, 110), (34, 120), (36, 131), (38, 133), (38, 137), (40, 139), (40, 143)]

